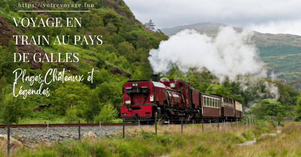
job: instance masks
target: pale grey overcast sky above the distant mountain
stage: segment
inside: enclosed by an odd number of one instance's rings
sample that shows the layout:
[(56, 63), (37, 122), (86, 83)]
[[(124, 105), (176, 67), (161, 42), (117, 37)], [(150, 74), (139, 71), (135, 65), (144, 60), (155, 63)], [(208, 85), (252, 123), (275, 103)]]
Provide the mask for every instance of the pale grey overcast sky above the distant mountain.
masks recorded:
[(214, 22), (261, 33), (301, 35), (298, 0), (124, 0), (141, 23), (156, 29)]

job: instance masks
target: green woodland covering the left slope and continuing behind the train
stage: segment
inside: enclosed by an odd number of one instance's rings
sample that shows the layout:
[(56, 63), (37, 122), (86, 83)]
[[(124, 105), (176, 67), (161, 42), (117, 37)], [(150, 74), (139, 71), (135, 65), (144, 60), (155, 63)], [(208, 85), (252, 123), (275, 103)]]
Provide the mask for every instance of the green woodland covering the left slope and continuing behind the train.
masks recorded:
[[(79, 5), (94, 4), (90, 8), (70, 8), (76, 11), (90, 12), (19, 12), (19, 10), (60, 11), (54, 7), (18, 7), (19, 3), (49, 4), (51, 2)], [(151, 80), (152, 67), (148, 61), (149, 51), (158, 49), (160, 41), (168, 37), (160, 31), (151, 30), (138, 21), (123, 0), (0, 0), (0, 123), (39, 123), (39, 122), (74, 122), (108, 121), (120, 118), (119, 105), (122, 103), (122, 86), (128, 80)], [(48, 18), (61, 18), (62, 25), (67, 25), (67, 18), (81, 18), (77, 27), (34, 27), (34, 23), (24, 22), (23, 27), (16, 27), (14, 18), (37, 18), (48, 23)], [(89, 39), (101, 35), (102, 44), (76, 44), (76, 38), (70, 38), (69, 44), (15, 44), (14, 35), (25, 35), (38, 39), (40, 35), (49, 36), (49, 43), (64, 36), (78, 36)], [(21, 41), (18, 41), (18, 43)], [(80, 41), (82, 43), (82, 41)], [(69, 59), (78, 62), (14, 62), (15, 53), (28, 53), (33, 58), (39, 53), (45, 59)], [(68, 55), (69, 54), (69, 58)], [(51, 56), (51, 57), (50, 57)], [(76, 59), (77, 58), (77, 59)], [(21, 59), (21, 58), (20, 58)], [(23, 59), (23, 58), (22, 58)], [(46, 94), (27, 94), (24, 89), (40, 89), (41, 83), (33, 80), (15, 81), (16, 69), (23, 69), (25, 77), (45, 77), (49, 69), (58, 72), (66, 70), (64, 75), (84, 76), (94, 69), (93, 83), (87, 79), (81, 81), (52, 81), (44, 83)], [(300, 93), (293, 87), (278, 80), (256, 77), (253, 75), (237, 76), (236, 82), (219, 82), (204, 69), (190, 68), (184, 73), (177, 65), (166, 74), (159, 73), (159, 79), (180, 79), (191, 82), (194, 89), (209, 94), (220, 94), (239, 101), (244, 106), (244, 114), (256, 119), (281, 115), (301, 120)], [(45, 82), (52, 77), (45, 78)], [(255, 81), (251, 81), (255, 80)], [(15, 82), (15, 84), (14, 84)], [(271, 88), (277, 92), (271, 92)], [(22, 90), (20, 92), (20, 90)], [(41, 107), (43, 106), (43, 107)], [(46, 106), (46, 107), (45, 107)]]

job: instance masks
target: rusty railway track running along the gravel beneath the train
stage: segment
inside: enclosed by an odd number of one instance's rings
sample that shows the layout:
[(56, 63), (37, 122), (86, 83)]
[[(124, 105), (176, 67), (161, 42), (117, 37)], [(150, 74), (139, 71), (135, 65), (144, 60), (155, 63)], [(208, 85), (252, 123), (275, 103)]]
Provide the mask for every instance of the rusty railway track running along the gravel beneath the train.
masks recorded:
[[(209, 123), (209, 122), (204, 122)], [(217, 123), (217, 122), (211, 122)], [(170, 125), (181, 124), (170, 122)], [(183, 122), (183, 124), (192, 124), (192, 122)], [(194, 124), (202, 124), (202, 122), (194, 122)], [(114, 126), (123, 125), (123, 123), (101, 123), (101, 126)], [(124, 125), (139, 125), (138, 123), (124, 123)], [(140, 125), (155, 125), (155, 123), (140, 123)], [(168, 122), (160, 123), (160, 125), (168, 125)], [(49, 127), (66, 127), (66, 126), (78, 126), (78, 123), (69, 124), (48, 124)], [(99, 123), (80, 123), (80, 126), (99, 126)], [(10, 128), (25, 128), (25, 127), (47, 127), (47, 124), (10, 124)], [(0, 128), (7, 128), (7, 124), (0, 124)]]

